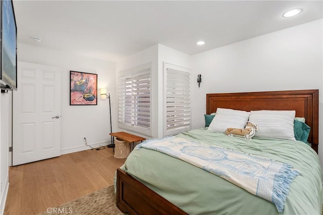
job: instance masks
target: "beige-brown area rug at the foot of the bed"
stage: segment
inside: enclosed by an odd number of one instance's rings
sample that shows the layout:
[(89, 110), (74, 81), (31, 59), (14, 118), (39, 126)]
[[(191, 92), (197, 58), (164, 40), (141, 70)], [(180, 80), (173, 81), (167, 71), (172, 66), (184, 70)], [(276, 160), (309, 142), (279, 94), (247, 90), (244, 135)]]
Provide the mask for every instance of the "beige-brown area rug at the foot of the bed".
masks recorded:
[(117, 196), (114, 192), (114, 186), (111, 185), (65, 204), (48, 207), (46, 211), (41, 212), (38, 215), (123, 215), (124, 213), (116, 206), (116, 199)]

